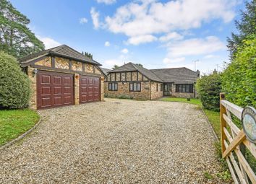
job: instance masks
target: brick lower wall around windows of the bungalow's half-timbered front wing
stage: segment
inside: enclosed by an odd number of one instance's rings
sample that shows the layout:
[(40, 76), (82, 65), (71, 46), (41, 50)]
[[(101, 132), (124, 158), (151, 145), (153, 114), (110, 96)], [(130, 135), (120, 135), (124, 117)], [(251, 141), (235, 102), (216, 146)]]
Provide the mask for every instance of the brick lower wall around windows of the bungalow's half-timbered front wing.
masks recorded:
[(104, 92), (106, 97), (120, 97), (127, 96), (133, 99), (150, 99), (150, 84), (149, 82), (141, 82), (141, 91), (140, 92), (129, 92), (129, 82), (117, 82), (118, 90), (109, 91), (108, 82), (104, 83)]

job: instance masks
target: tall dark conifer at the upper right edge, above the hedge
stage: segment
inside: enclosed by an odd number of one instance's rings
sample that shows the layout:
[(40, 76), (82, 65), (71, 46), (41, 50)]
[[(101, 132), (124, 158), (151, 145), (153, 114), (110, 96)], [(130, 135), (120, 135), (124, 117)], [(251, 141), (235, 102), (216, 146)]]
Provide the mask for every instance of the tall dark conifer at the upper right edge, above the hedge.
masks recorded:
[(246, 10), (241, 11), (241, 19), (235, 22), (238, 33), (232, 32), (231, 38), (227, 39), (231, 58), (233, 58), (237, 48), (242, 45), (242, 40), (248, 35), (256, 34), (256, 0), (247, 1), (245, 6)]

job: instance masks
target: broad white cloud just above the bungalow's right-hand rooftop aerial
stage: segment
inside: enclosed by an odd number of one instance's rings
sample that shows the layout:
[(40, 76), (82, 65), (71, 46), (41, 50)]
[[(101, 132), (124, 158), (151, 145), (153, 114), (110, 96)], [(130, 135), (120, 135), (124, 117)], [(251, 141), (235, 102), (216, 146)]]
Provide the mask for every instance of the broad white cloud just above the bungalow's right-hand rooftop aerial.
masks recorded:
[(197, 56), (210, 54), (226, 49), (225, 43), (215, 36), (206, 38), (192, 38), (177, 42), (167, 43), (168, 57)]

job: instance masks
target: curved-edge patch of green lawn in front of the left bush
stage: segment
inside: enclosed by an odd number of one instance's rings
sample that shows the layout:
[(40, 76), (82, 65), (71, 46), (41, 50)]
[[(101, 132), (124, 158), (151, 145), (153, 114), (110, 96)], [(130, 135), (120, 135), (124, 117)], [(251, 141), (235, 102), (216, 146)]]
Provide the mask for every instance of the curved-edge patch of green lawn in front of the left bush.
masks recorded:
[(33, 110), (0, 110), (0, 146), (25, 133), (38, 120)]

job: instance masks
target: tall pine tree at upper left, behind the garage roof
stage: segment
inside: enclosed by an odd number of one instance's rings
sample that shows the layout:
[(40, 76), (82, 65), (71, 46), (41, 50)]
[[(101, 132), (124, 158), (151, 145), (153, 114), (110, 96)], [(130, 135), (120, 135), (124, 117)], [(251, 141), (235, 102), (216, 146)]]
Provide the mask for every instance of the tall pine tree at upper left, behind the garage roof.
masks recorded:
[(9, 1), (0, 0), (0, 51), (17, 58), (42, 51), (43, 42), (27, 27), (29, 23)]

